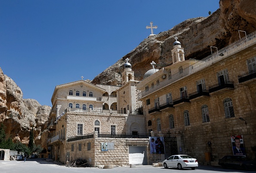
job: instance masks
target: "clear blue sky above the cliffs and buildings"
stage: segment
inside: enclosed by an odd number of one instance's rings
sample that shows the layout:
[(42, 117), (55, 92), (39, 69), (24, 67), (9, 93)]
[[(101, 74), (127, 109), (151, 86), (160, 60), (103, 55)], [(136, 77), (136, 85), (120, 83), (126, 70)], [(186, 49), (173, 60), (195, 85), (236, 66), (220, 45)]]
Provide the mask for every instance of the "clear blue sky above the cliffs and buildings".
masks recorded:
[(23, 98), (51, 106), (56, 85), (94, 79), (147, 36), (206, 17), (219, 0), (0, 0), (0, 67)]

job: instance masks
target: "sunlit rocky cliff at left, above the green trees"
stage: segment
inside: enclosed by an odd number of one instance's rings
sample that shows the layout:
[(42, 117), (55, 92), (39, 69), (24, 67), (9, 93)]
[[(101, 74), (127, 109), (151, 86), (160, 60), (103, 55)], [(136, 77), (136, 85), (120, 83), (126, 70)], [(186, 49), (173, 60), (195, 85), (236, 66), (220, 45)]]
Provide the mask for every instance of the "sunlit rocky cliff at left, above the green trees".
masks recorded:
[(47, 129), (51, 107), (22, 97), (21, 89), (0, 68), (0, 123), (6, 126), (6, 134), (10, 134), (14, 141), (26, 144), (30, 128), (35, 127), (35, 144), (41, 144), (41, 132)]

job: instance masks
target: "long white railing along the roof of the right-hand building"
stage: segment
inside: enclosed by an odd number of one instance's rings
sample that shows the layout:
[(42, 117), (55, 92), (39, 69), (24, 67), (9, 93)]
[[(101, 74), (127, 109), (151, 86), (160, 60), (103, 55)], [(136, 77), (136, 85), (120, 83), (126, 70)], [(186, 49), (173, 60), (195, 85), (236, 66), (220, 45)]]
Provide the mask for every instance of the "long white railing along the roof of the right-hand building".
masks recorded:
[[(226, 46), (223, 49), (218, 50), (218, 52), (213, 53), (212, 55), (207, 56), (206, 58), (203, 58), (201, 61), (196, 62), (193, 65), (190, 65), (189, 67), (183, 69), (183, 73), (175, 73), (172, 75), (171, 79), (165, 79), (162, 82), (159, 82), (159, 85), (154, 85), (154, 88), (148, 88), (148, 91), (142, 91), (142, 97), (165, 87), (166, 85), (169, 85), (178, 79), (181, 79), (185, 76), (190, 75), (191, 73), (195, 73), (198, 70), (201, 70), (212, 63), (215, 63), (216, 61), (219, 61), (221, 59), (227, 58), (229, 55), (240, 51), (241, 49), (244, 49), (246, 46), (249, 46), (256, 42), (256, 32), (250, 33), (249, 35), (239, 39), (236, 42), (231, 43), (230, 45)], [(141, 81), (140, 81), (141, 82)]]

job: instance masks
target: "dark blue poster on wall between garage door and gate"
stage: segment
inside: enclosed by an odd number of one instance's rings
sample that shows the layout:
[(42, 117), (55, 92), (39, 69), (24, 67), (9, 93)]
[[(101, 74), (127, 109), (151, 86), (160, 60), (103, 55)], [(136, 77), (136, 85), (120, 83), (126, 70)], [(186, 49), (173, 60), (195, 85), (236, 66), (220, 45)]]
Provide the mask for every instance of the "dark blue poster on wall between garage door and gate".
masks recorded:
[(150, 154), (165, 154), (165, 145), (163, 137), (150, 138)]

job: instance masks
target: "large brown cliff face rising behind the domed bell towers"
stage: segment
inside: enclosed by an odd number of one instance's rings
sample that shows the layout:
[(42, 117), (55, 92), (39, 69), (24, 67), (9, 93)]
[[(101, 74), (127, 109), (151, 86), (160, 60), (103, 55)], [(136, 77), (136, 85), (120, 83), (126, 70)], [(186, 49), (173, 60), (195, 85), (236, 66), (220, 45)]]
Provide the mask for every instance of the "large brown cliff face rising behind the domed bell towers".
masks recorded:
[[(139, 46), (129, 52), (111, 67), (97, 75), (92, 83), (120, 85), (125, 58), (130, 59), (135, 80), (143, 79), (150, 62), (172, 64), (171, 50), (174, 37), (178, 36), (185, 58), (202, 59), (211, 54), (210, 46), (222, 49), (239, 39), (238, 30), (247, 34), (256, 30), (255, 0), (220, 0), (220, 9), (208, 17), (191, 18), (181, 22), (170, 30), (144, 39)], [(240, 32), (244, 37), (244, 32)]]

